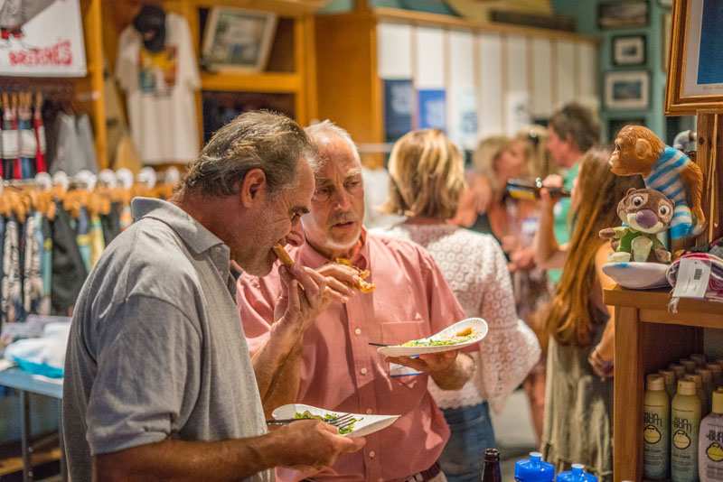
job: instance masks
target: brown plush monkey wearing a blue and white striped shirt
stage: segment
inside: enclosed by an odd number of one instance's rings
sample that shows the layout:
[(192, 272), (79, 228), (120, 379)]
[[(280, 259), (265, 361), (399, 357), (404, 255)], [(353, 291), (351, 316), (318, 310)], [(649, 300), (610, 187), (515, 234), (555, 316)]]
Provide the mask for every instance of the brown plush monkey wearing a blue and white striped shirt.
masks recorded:
[(706, 222), (700, 207), (703, 173), (687, 155), (665, 145), (647, 127), (625, 125), (615, 138), (610, 167), (618, 176), (641, 174), (645, 187), (659, 190), (673, 201), (670, 232), (674, 249), (685, 247), (684, 238), (700, 233)]

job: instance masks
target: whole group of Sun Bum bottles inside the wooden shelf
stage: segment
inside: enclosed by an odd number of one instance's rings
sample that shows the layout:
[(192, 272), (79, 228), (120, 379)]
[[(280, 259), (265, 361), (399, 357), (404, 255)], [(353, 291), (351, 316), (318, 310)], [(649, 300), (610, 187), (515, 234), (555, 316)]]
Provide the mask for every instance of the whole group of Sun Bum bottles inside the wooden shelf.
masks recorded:
[(723, 482), (721, 368), (720, 362), (706, 363), (704, 356), (693, 355), (647, 376), (643, 402), (645, 479)]

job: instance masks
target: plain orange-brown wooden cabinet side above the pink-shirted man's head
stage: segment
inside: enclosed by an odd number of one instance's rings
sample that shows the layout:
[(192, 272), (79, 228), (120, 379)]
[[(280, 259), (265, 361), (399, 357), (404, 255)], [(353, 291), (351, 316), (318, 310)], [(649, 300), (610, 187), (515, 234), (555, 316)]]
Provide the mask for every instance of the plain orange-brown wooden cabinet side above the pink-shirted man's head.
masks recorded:
[[(367, 39), (368, 42), (364, 42)], [(347, 129), (357, 143), (383, 139), (377, 28), (371, 16), (315, 18), (319, 118)]]

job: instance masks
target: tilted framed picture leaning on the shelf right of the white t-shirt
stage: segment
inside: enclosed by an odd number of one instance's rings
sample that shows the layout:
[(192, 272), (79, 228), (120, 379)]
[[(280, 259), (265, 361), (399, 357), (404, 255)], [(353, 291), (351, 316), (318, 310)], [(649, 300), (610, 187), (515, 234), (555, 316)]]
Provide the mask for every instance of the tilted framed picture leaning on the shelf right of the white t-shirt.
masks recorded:
[(202, 63), (211, 71), (266, 69), (277, 16), (243, 8), (211, 8), (203, 34)]

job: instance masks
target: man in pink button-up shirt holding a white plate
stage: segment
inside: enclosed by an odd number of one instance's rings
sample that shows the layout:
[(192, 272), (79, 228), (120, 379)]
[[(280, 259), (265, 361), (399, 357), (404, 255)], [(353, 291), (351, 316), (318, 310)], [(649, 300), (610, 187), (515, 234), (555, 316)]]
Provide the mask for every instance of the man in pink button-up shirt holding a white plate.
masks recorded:
[[(401, 415), (390, 428), (368, 436), (364, 450), (341, 457), (332, 470), (315, 474), (315, 480), (444, 481), (437, 458), (449, 430), (427, 392), (427, 377), (443, 389), (459, 389), (474, 373), (471, 358), (453, 351), (391, 360), (369, 343), (398, 344), (427, 337), (464, 319), (465, 312), (422, 247), (364, 231), (362, 164), (348, 134), (328, 122), (307, 128), (307, 134), (322, 163), (315, 176), (311, 213), (302, 218), (306, 243), (289, 253), (297, 264), (342, 282), (329, 287), (343, 292), (347, 301), (332, 302), (305, 330), (303, 346), (289, 357), (275, 381), (277, 390), (288, 394), (289, 403)], [(296, 244), (301, 245), (302, 235), (298, 236)], [(368, 281), (376, 283), (376, 290), (351, 290), (355, 272), (334, 264), (336, 257), (370, 270)], [(244, 274), (239, 279), (239, 310), (252, 352), (266, 343), (274, 329), (271, 323), (282, 283), (277, 271), (264, 278)], [(425, 373), (404, 375), (390, 362)], [(277, 469), (277, 477), (302, 478), (284, 468)]]

